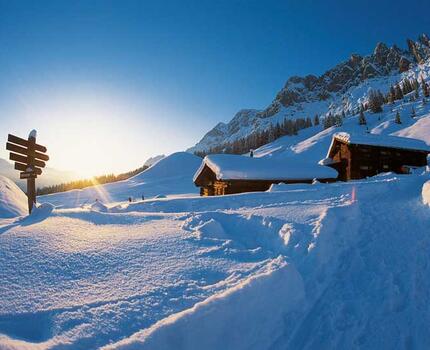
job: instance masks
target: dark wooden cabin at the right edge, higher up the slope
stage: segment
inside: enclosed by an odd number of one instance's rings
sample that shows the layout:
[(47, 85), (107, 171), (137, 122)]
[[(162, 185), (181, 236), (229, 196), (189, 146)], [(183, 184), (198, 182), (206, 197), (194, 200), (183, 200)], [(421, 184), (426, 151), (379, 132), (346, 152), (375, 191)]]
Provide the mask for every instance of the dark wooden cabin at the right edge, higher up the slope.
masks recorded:
[(347, 181), (390, 171), (408, 173), (410, 167), (427, 165), (429, 153), (430, 146), (421, 140), (340, 132), (333, 136), (320, 164), (336, 169), (339, 180)]

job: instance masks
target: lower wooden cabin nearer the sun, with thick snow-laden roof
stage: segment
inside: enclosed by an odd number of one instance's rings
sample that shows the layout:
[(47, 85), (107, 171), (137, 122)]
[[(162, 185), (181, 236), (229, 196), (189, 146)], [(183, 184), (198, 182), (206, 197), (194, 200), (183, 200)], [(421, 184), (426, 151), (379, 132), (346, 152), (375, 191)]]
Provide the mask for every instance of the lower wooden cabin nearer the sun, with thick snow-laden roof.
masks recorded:
[(232, 154), (206, 156), (194, 176), (200, 195), (217, 196), (267, 191), (272, 184), (335, 181), (337, 172), (315, 163), (296, 160), (253, 158)]

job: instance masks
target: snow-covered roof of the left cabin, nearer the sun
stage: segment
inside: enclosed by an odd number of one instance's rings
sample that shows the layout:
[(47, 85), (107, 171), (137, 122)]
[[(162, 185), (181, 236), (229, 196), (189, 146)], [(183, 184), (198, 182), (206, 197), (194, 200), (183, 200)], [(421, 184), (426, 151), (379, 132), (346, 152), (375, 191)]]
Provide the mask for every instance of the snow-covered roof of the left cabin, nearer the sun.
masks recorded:
[(337, 171), (332, 168), (295, 159), (214, 154), (203, 159), (194, 181), (205, 165), (215, 173), (217, 180), (313, 180), (337, 177)]

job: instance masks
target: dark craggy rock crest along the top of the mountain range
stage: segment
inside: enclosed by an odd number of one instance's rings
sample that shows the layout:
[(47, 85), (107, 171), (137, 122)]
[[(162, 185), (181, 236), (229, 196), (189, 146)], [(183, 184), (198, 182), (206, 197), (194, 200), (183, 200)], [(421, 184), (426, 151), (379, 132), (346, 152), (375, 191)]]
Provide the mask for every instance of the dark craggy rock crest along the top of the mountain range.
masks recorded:
[[(218, 124), (190, 150), (204, 150), (208, 146), (222, 145), (234, 141), (270, 124), (272, 117), (279, 115), (294, 117), (307, 104), (321, 104), (330, 98), (341, 96), (354, 86), (371, 78), (406, 72), (411, 65), (430, 58), (430, 40), (421, 34), (417, 41), (407, 40), (407, 49), (396, 45), (387, 46), (378, 42), (367, 56), (352, 54), (321, 76), (292, 76), (276, 94), (270, 105), (262, 111), (243, 109), (236, 113), (228, 124)], [(288, 111), (288, 113), (286, 112)], [(287, 113), (287, 114), (286, 114)], [(276, 118), (275, 118), (276, 119)]]

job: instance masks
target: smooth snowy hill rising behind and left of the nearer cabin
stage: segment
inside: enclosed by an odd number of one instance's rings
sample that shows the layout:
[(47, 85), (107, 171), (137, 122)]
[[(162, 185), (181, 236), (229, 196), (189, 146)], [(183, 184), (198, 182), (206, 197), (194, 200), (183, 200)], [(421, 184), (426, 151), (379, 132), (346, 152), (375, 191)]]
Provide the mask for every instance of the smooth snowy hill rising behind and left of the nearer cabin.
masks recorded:
[(194, 186), (192, 178), (200, 163), (201, 158), (193, 154), (173, 153), (128, 180), (40, 196), (38, 201), (74, 208), (96, 200), (112, 203), (127, 201), (129, 197), (141, 200), (142, 195), (144, 198), (151, 198), (195, 194), (198, 193), (198, 188)]

